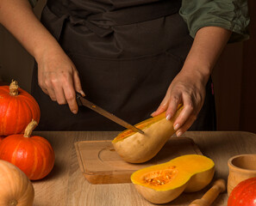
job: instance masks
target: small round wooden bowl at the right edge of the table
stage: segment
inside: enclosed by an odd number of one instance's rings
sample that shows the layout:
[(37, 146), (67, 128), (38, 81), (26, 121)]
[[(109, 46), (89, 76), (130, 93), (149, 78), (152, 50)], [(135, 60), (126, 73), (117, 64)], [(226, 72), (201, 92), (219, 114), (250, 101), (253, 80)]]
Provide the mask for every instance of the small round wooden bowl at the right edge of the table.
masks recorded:
[(241, 181), (256, 177), (256, 154), (239, 154), (228, 160), (228, 196)]

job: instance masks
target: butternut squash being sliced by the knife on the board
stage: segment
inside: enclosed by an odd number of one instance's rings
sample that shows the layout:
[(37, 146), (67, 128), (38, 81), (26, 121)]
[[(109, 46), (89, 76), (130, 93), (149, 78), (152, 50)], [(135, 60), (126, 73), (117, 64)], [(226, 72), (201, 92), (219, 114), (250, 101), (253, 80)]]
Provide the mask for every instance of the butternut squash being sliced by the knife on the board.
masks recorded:
[(165, 112), (154, 118), (135, 124), (137, 128), (144, 131), (144, 134), (133, 130), (124, 130), (112, 141), (117, 154), (124, 161), (130, 163), (142, 163), (151, 160), (165, 142), (175, 133), (173, 123), (181, 112), (183, 106), (178, 106), (176, 114), (167, 120)]

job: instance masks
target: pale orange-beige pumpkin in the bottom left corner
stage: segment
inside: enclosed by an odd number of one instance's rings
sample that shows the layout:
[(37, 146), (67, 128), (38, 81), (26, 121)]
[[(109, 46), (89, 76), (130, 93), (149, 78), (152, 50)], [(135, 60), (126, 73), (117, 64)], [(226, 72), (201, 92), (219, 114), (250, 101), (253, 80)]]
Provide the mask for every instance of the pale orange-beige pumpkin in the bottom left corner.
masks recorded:
[(0, 160), (0, 206), (32, 206), (34, 187), (16, 166)]

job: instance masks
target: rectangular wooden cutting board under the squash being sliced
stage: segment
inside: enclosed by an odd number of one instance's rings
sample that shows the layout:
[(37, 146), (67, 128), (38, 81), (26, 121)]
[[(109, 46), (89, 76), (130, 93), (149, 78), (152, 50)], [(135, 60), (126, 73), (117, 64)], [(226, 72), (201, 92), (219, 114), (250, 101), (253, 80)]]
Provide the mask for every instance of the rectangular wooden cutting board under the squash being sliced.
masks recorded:
[(75, 142), (79, 167), (91, 184), (130, 183), (135, 171), (171, 161), (184, 154), (202, 154), (188, 137), (172, 137), (152, 160), (141, 164), (123, 161), (110, 140)]

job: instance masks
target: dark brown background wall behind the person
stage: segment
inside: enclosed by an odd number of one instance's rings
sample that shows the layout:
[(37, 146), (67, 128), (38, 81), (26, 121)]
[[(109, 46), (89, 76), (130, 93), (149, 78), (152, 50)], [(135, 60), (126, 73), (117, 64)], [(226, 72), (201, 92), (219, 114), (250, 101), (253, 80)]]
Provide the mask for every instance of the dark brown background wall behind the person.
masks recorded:
[[(34, 8), (40, 18), (46, 0)], [(228, 44), (213, 72), (217, 130), (256, 133), (256, 3), (249, 0), (250, 39)], [(0, 81), (15, 79), (30, 91), (34, 59), (0, 25)]]

